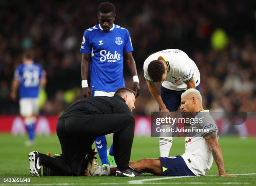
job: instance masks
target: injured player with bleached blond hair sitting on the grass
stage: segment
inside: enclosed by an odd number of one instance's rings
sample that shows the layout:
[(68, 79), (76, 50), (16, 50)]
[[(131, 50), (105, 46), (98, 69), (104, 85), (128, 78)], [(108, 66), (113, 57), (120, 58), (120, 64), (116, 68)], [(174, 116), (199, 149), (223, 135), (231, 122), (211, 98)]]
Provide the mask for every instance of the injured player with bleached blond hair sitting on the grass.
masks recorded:
[[(181, 110), (184, 116), (195, 113), (192, 117), (202, 118), (202, 122), (185, 126), (186, 129), (208, 127), (208, 132), (186, 133), (185, 153), (173, 157), (160, 157), (156, 159), (141, 159), (130, 162), (136, 173), (147, 172), (159, 176), (205, 176), (213, 160), (218, 166), (218, 176), (236, 177), (225, 173), (223, 156), (218, 143), (218, 129), (209, 112), (203, 112), (202, 96), (196, 89), (188, 89), (181, 96)], [(89, 166), (90, 167), (90, 166)], [(113, 175), (116, 168), (103, 171), (95, 163), (91, 168), (92, 176)]]

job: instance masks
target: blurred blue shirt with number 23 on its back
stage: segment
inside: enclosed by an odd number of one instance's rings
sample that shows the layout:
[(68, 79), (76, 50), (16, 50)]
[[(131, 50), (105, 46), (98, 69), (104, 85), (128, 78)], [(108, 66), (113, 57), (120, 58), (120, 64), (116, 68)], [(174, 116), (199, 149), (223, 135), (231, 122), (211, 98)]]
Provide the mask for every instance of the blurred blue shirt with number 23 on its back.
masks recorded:
[(40, 79), (44, 77), (41, 65), (20, 64), (14, 78), (20, 82), (19, 98), (36, 98), (39, 95)]

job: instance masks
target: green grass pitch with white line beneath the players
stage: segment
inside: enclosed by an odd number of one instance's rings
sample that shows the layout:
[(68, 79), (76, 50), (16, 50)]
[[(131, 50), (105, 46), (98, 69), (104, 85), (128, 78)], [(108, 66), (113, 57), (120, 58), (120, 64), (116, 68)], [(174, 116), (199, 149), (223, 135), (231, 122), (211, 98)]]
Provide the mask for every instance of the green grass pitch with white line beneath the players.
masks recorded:
[[(74, 185), (256, 185), (256, 138), (220, 137), (225, 170), (229, 174), (238, 174), (236, 178), (214, 176), (218, 173), (215, 162), (203, 177), (164, 177), (145, 174), (136, 178), (118, 178), (115, 176), (95, 177), (32, 177), (29, 174), (28, 153), (38, 150), (41, 153), (61, 153), (56, 135), (37, 136), (36, 145), (24, 147), (26, 136), (0, 135), (0, 186), (74, 186)], [(108, 136), (108, 147), (112, 137)], [(184, 152), (184, 138), (174, 138), (170, 156)], [(159, 156), (158, 138), (135, 137), (131, 161)], [(99, 161), (100, 163), (100, 161)], [(253, 173), (253, 174), (250, 174)], [(241, 175), (246, 174), (246, 175)], [(213, 176), (212, 176), (213, 175)], [(30, 178), (30, 182), (8, 183), (4, 178)]]

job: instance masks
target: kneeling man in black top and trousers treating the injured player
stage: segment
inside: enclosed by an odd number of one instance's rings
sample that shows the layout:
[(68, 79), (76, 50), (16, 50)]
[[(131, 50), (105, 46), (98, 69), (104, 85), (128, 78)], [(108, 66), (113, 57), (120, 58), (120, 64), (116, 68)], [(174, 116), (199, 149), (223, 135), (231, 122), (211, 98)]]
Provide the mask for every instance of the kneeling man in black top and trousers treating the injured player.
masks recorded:
[(63, 158), (32, 151), (28, 155), (31, 175), (41, 176), (41, 166), (59, 176), (83, 175), (85, 155), (97, 136), (114, 133), (116, 176), (135, 176), (136, 173), (128, 167), (135, 123), (131, 111), (135, 109), (135, 100), (135, 92), (122, 87), (113, 97), (89, 97), (71, 104), (56, 126)]

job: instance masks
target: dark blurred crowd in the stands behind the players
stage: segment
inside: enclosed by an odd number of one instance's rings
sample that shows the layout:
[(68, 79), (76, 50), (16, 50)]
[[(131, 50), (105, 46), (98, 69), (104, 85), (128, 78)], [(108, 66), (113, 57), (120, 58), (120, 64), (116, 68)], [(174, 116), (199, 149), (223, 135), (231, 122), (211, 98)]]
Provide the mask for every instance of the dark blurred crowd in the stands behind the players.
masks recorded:
[[(256, 111), (256, 1), (110, 1), (115, 24), (127, 28), (133, 43), (141, 92), (135, 115), (158, 105), (143, 77), (143, 62), (169, 48), (186, 52), (197, 64), (205, 109)], [(41, 91), (43, 115), (59, 115), (82, 98), (81, 56), (85, 29), (98, 24), (102, 1), (0, 0), (0, 114), (18, 114), (10, 99), (15, 68), (23, 50), (33, 48), (47, 73)], [(124, 66), (125, 82), (132, 76)], [(158, 85), (160, 86), (160, 84)]]

